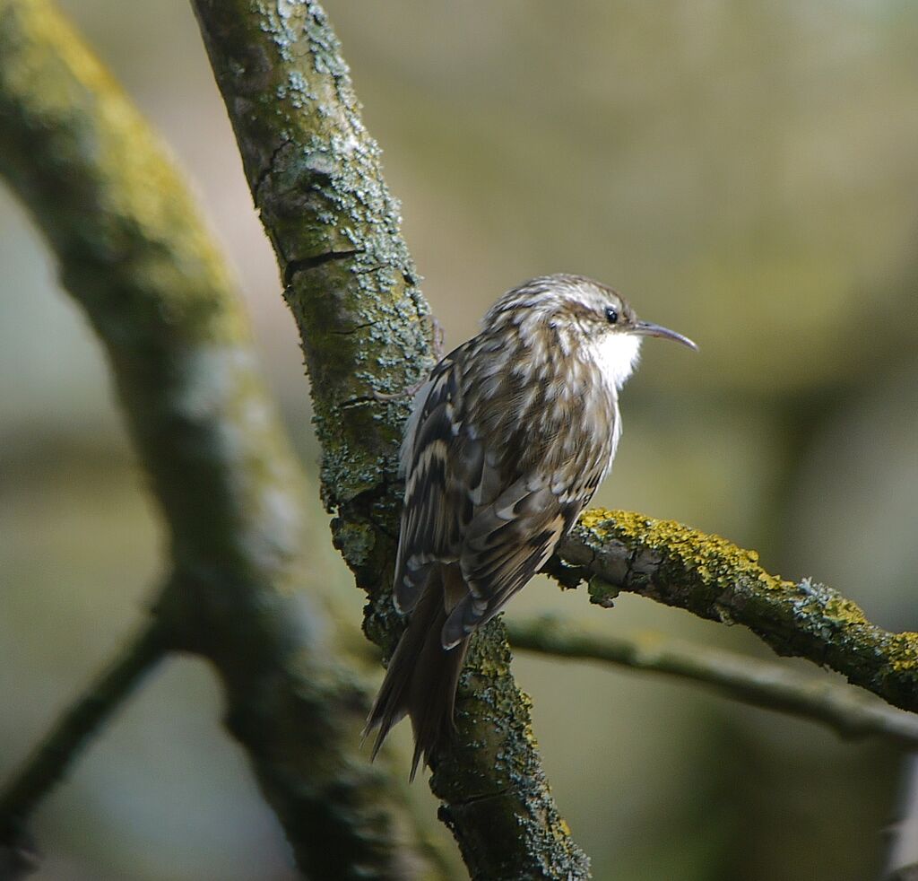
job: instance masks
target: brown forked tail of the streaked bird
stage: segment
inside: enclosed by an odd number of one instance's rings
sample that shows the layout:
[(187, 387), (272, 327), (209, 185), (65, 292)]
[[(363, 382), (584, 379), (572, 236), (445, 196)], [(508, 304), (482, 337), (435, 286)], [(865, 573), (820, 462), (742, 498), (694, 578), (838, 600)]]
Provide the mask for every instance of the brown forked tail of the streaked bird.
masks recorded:
[(468, 638), (453, 649), (443, 649), (441, 634), (447, 616), (444, 597), (454, 593), (444, 581), (457, 576), (448, 567), (433, 567), (431, 580), (411, 612), (366, 721), (365, 733), (379, 729), (371, 756), (375, 758), (389, 729), (402, 717), (410, 717), (414, 729), (411, 780), (421, 758), (430, 764), (433, 752), (453, 734), (456, 686)]

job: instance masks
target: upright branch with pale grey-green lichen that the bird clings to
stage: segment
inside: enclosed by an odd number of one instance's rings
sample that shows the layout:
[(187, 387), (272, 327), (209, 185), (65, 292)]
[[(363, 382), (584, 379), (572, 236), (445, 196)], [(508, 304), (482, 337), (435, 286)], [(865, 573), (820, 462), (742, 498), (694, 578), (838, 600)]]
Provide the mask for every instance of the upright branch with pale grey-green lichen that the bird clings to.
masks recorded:
[[(335, 543), (369, 593), (368, 636), (391, 649), (389, 599), (407, 402), (376, 401), (430, 366), (427, 305), (324, 11), (310, 0), (195, 0), (255, 204), (306, 355)], [(499, 625), (461, 683), (459, 747), (432, 788), (475, 877), (581, 878), (509, 675)]]

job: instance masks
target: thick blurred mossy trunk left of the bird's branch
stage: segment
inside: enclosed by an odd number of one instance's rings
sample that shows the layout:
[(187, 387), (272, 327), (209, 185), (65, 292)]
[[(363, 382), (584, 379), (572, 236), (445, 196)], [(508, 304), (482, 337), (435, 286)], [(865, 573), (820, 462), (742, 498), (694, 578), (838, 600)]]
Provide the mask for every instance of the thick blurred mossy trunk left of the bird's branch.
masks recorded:
[(106, 347), (169, 533), (158, 627), (216, 665), (298, 863), (429, 876), (399, 790), (358, 752), (364, 687), (302, 591), (301, 479), (227, 271), (160, 143), (44, 0), (0, 0), (0, 173)]

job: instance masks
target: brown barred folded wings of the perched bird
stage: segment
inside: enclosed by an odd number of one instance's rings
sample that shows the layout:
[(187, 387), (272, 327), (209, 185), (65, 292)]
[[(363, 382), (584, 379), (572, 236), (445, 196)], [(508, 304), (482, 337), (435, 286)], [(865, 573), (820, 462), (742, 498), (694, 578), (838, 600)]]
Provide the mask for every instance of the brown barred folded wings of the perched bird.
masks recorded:
[[(596, 480), (581, 474), (581, 492), (557, 491), (556, 484), (553, 491), (550, 474), (527, 468), (532, 463), (527, 450), (508, 449), (506, 441), (496, 446), (496, 436), (523, 433), (487, 431), (469, 418), (462, 390), (488, 389), (487, 377), (476, 382), (464, 375), (482, 360), (475, 342), (460, 346), (434, 368), (420, 391), (402, 450), (407, 485), (396, 603), (410, 612), (429, 584), (431, 567), (458, 566), (465, 591), (444, 599), (444, 649), (452, 649), (497, 615), (542, 568), (599, 483), (599, 474)], [(509, 417), (512, 378), (505, 373), (490, 390), (492, 412), (504, 406)], [(481, 412), (480, 405), (476, 412)], [(523, 419), (530, 415), (521, 413)], [(564, 427), (559, 422), (546, 429), (554, 435)], [(570, 425), (566, 427), (569, 431)], [(541, 440), (551, 446), (555, 437)], [(587, 470), (601, 472), (604, 466)]]

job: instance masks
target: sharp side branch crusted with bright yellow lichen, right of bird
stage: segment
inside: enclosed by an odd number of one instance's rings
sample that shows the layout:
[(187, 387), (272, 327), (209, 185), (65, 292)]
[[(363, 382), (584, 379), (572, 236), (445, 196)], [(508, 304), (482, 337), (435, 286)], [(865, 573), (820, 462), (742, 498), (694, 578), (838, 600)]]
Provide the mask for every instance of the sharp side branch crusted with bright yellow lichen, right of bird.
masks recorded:
[(566, 586), (589, 580), (590, 600), (611, 605), (620, 591), (742, 624), (780, 655), (842, 673), (893, 706), (918, 712), (918, 634), (890, 633), (824, 584), (786, 582), (737, 548), (667, 520), (588, 511), (550, 568)]

